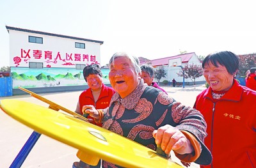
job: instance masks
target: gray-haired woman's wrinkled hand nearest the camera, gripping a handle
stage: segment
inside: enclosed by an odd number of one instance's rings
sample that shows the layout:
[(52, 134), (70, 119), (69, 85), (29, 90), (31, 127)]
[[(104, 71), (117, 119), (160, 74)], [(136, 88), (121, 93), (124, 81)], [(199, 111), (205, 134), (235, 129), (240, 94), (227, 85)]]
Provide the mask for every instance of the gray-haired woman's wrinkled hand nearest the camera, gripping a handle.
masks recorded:
[(171, 125), (164, 125), (158, 130), (154, 130), (153, 136), (156, 139), (156, 144), (161, 144), (161, 149), (166, 154), (169, 154), (171, 150), (181, 155), (194, 151), (189, 139), (180, 130)]

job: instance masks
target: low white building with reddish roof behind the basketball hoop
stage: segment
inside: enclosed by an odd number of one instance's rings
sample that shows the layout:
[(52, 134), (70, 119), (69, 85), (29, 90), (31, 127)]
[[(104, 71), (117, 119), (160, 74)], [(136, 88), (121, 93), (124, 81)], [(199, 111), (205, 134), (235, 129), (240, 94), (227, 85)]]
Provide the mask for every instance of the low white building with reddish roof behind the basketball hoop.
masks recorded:
[[(140, 59), (141, 65), (144, 63), (147, 63), (152, 65), (154, 68), (163, 66), (167, 74), (165, 78), (161, 79), (161, 81), (163, 80), (172, 81), (172, 79), (174, 78), (177, 82), (183, 82), (183, 77), (179, 77), (177, 75), (177, 72), (181, 70), (181, 66), (184, 67), (187, 64), (202, 65), (202, 63), (198, 59), (198, 56), (196, 56), (195, 52), (180, 54), (177, 56), (163, 57), (159, 59), (152, 59), (152, 60), (149, 60), (143, 57), (139, 57), (139, 59)], [(185, 82), (188, 85), (193, 84), (191, 79), (185, 79)], [(205, 83), (204, 76), (196, 79), (196, 83), (204, 84)]]

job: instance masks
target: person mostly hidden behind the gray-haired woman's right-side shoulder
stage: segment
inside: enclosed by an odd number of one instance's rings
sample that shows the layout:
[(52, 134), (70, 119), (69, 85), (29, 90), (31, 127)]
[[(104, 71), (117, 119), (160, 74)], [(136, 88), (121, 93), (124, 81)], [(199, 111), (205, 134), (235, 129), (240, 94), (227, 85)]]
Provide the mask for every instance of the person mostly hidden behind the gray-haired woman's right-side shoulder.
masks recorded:
[(144, 80), (145, 84), (147, 84), (148, 86), (153, 86), (154, 88), (160, 89), (161, 91), (166, 93), (166, 95), (168, 95), (168, 93), (163, 88), (158, 86), (157, 82), (153, 82), (154, 80), (153, 66), (148, 64), (143, 64), (140, 66), (140, 68), (141, 68), (141, 78)]

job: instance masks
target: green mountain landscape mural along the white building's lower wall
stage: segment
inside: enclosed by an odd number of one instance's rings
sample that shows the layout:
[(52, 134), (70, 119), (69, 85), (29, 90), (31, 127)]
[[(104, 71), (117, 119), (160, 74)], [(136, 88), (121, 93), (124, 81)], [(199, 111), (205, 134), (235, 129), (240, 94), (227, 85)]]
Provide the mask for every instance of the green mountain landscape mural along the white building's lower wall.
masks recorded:
[[(109, 69), (102, 69), (103, 82), (109, 84)], [(17, 68), (12, 67), (13, 89), (85, 85), (83, 70), (74, 68)]]

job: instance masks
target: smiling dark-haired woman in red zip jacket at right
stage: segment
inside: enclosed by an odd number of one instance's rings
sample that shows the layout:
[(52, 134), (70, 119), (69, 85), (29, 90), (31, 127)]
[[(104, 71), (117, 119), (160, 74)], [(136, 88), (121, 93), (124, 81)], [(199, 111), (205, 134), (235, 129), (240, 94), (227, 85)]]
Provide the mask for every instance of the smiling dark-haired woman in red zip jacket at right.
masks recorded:
[(209, 54), (202, 68), (209, 88), (196, 97), (194, 108), (207, 123), (212, 164), (201, 167), (256, 167), (256, 92), (234, 79), (238, 57), (230, 51)]

